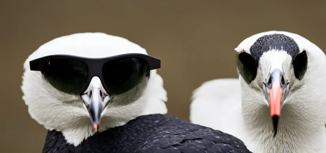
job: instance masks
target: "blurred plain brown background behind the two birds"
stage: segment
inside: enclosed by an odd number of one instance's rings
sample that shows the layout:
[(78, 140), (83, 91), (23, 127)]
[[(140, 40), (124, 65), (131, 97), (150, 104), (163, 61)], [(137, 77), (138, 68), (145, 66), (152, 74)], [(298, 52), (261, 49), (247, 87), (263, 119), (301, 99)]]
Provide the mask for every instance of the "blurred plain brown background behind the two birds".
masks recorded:
[(234, 48), (264, 31), (298, 33), (326, 50), (326, 1), (16, 0), (0, 2), (2, 153), (41, 152), (46, 130), (32, 120), (20, 89), (23, 62), (63, 35), (105, 32), (162, 59), (168, 115), (188, 120), (192, 91), (237, 77)]

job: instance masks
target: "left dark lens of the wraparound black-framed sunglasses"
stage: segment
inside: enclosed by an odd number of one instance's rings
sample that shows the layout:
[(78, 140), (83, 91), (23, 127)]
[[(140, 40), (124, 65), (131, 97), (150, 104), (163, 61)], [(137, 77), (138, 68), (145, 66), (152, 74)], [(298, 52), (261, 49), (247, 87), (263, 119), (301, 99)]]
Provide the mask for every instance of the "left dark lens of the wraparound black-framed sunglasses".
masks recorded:
[(43, 74), (56, 89), (80, 94), (88, 78), (88, 67), (79, 60), (51, 59), (44, 63)]

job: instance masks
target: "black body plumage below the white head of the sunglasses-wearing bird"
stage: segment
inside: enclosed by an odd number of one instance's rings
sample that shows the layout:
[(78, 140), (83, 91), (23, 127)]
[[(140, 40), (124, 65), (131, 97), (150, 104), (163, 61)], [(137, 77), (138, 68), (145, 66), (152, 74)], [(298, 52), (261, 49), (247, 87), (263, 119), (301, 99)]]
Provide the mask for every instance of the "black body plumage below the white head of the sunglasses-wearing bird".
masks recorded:
[(67, 144), (49, 131), (43, 153), (250, 153), (238, 138), (175, 117), (155, 114), (129, 121), (84, 140)]

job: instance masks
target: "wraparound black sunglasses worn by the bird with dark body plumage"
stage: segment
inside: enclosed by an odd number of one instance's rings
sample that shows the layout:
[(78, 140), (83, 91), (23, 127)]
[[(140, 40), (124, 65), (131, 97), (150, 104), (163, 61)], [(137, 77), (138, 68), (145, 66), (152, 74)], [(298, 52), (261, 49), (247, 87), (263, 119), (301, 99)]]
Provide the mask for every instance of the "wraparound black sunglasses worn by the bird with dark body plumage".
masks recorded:
[(150, 77), (150, 70), (161, 68), (160, 59), (138, 53), (104, 58), (50, 55), (29, 64), (30, 70), (41, 71), (53, 87), (68, 94), (83, 94), (97, 76), (109, 95), (119, 95)]

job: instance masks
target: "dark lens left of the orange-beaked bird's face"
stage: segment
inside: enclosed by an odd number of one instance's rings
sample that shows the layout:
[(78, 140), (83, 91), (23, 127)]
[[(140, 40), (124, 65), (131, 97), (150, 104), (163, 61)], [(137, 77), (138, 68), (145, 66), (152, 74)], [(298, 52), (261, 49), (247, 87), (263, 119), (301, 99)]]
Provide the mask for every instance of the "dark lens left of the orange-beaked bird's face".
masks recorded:
[(257, 75), (258, 61), (246, 52), (237, 55), (237, 68), (244, 81), (250, 84)]

